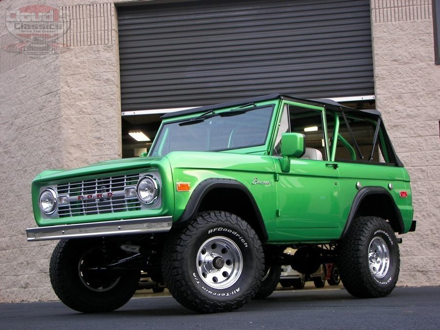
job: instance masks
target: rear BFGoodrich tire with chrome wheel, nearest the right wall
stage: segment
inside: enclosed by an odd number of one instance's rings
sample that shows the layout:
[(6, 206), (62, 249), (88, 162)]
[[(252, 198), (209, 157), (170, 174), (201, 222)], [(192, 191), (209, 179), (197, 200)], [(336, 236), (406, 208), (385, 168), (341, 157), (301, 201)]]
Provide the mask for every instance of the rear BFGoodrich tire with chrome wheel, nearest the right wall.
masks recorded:
[(385, 297), (393, 291), (400, 256), (388, 222), (378, 217), (356, 218), (338, 250), (341, 280), (353, 296)]

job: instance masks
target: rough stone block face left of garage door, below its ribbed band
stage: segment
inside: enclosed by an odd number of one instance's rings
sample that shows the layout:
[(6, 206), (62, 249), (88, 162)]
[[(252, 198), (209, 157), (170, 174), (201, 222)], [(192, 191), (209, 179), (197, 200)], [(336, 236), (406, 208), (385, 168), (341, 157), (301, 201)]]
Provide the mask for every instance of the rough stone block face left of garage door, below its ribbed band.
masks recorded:
[(119, 63), (114, 44), (70, 48), (61, 55), (64, 167), (120, 158)]

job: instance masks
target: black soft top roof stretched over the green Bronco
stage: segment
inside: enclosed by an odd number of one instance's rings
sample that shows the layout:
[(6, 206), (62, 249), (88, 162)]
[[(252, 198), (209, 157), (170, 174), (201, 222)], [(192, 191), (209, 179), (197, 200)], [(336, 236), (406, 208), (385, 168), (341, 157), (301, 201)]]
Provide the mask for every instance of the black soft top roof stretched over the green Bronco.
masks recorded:
[(333, 100), (330, 100), (330, 99), (303, 99), (300, 97), (289, 96), (286, 94), (269, 94), (269, 95), (264, 95), (264, 96), (257, 96), (257, 97), (253, 97), (253, 98), (248, 98), (248, 99), (219, 103), (219, 104), (215, 104), (215, 105), (211, 105), (211, 106), (192, 108), (192, 109), (176, 111), (176, 112), (168, 112), (168, 113), (165, 113), (164, 115), (162, 115), (162, 118), (163, 119), (172, 118), (172, 117), (177, 117), (177, 116), (181, 116), (181, 115), (198, 113), (198, 112), (205, 112), (208, 110), (216, 110), (216, 109), (221, 109), (221, 108), (239, 107), (239, 106), (242, 106), (242, 105), (245, 105), (248, 103), (257, 103), (257, 102), (261, 102), (261, 101), (268, 101), (268, 100), (273, 100), (273, 99), (278, 99), (278, 98), (285, 99), (288, 101), (301, 102), (301, 103), (305, 103), (305, 104), (312, 105), (312, 106), (318, 106), (318, 107), (324, 106), (330, 110), (344, 111), (344, 112), (363, 112), (363, 113), (369, 113), (369, 114), (373, 114), (376, 116), (380, 116), (380, 112), (378, 110), (374, 110), (374, 109), (357, 110), (357, 109), (353, 109), (350, 107), (346, 107), (346, 106), (339, 104), (339, 103), (337, 103)]

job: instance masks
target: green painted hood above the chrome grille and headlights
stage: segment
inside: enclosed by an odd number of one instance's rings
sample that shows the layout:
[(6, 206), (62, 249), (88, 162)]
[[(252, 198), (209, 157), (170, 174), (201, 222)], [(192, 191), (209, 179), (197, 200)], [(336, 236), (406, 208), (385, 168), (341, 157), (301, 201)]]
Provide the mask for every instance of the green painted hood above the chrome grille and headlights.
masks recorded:
[(135, 157), (106, 160), (74, 170), (44, 171), (36, 179), (40, 182), (62, 180), (70, 177), (90, 176), (101, 173), (145, 169), (152, 167), (153, 162), (159, 162), (163, 157)]

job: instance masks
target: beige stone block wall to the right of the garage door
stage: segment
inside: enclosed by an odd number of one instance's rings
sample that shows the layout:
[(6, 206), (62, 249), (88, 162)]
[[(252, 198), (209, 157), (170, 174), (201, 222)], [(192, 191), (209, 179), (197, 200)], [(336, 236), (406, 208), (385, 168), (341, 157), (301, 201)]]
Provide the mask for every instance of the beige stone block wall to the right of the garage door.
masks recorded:
[(372, 0), (376, 107), (408, 169), (417, 230), (401, 235), (397, 285), (440, 281), (440, 66), (431, 0)]

